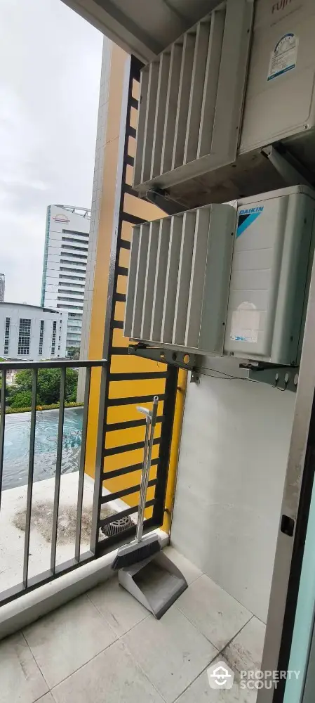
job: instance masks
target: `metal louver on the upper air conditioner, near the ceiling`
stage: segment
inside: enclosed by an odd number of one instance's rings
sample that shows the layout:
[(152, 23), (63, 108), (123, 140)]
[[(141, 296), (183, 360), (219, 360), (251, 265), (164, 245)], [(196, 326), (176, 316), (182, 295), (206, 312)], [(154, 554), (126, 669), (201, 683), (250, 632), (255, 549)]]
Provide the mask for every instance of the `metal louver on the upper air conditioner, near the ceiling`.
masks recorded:
[(142, 69), (141, 193), (235, 160), (252, 16), (252, 0), (226, 0)]

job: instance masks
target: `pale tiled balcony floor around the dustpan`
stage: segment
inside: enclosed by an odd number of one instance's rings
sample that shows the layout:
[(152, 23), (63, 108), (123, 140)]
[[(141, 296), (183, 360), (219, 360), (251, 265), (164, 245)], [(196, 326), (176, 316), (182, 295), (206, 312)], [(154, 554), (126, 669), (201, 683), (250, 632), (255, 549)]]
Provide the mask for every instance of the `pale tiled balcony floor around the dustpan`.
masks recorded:
[[(1, 703), (255, 703), (238, 672), (260, 668), (264, 625), (166, 552), (189, 588), (160, 621), (107, 581), (0, 643)], [(222, 659), (236, 683), (212, 690), (206, 669)]]

